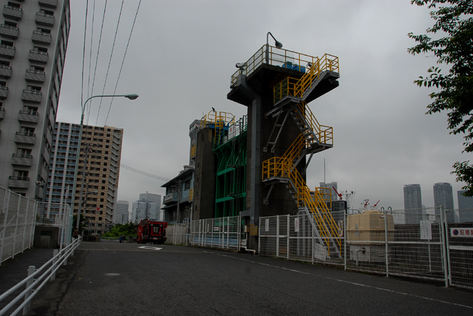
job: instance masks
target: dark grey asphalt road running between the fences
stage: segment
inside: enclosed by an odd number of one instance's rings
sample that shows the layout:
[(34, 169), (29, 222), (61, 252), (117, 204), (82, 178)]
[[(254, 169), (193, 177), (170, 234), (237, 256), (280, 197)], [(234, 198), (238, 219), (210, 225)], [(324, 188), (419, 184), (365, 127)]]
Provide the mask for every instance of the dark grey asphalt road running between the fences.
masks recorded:
[(82, 242), (31, 315), (473, 315), (473, 292), (246, 253)]

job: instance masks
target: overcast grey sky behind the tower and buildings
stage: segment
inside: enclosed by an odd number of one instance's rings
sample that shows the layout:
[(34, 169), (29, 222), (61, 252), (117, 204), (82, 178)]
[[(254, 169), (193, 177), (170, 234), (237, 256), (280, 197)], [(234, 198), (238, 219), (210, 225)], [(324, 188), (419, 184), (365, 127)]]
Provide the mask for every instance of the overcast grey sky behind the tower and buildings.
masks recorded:
[[(138, 0), (123, 6), (109, 76), (105, 75), (122, 1), (109, 0), (94, 90), (88, 85), (90, 31), (92, 74), (104, 12), (104, 0), (89, 0), (83, 100), (113, 94)], [(63, 76), (58, 121), (79, 123), (86, 1), (71, 1), (71, 33)], [(189, 124), (212, 107), (241, 117), (246, 107), (228, 101), (235, 63), (245, 62), (266, 43), (266, 33), (284, 49), (339, 57), (339, 88), (309, 105), (320, 124), (333, 127), (334, 147), (314, 155), (307, 185), (337, 181), (355, 191), (354, 207), (403, 208), (403, 185), (419, 183), (422, 203), (433, 206), (433, 184), (449, 182), (456, 191), (452, 165), (462, 154), (463, 138), (449, 135), (447, 115), (425, 115), (431, 92), (413, 81), (436, 59), (411, 56), (409, 32), (425, 33), (433, 21), (428, 8), (410, 0), (218, 1), (143, 0), (129, 43), (116, 94), (99, 99), (88, 124), (124, 129), (122, 163), (143, 172), (173, 178), (189, 163)], [(89, 87), (89, 88), (88, 88)], [(104, 89), (104, 90), (103, 90)], [(103, 93), (102, 93), (103, 90)], [(106, 115), (111, 105), (110, 115)], [(143, 192), (164, 195), (164, 181), (120, 169), (118, 199), (133, 202)]]

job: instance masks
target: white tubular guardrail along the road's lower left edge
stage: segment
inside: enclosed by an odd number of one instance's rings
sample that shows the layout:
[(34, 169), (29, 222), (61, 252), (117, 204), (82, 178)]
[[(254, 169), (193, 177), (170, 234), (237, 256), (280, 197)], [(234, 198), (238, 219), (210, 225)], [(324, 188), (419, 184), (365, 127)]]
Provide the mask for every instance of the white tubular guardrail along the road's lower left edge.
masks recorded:
[(38, 293), (38, 291), (47, 283), (48, 280), (54, 281), (56, 278), (56, 271), (61, 267), (61, 265), (67, 265), (67, 258), (74, 254), (74, 250), (81, 243), (81, 238), (77, 238), (67, 247), (58, 251), (54, 250), (54, 256), (47, 263), (42, 265), (39, 269), (35, 269), (35, 266), (32, 265), (29, 267), (28, 276), (24, 278), (23, 281), (19, 282), (17, 285), (10, 288), (10, 290), (0, 295), (0, 303), (4, 299), (7, 299), (11, 295), (15, 294), (17, 290), (26, 285), (23, 292), (17, 294), (17, 296), (10, 301), (2, 310), (0, 310), (0, 315), (5, 315), (8, 310), (11, 310), (17, 303), (24, 300), (10, 315), (17, 315), (20, 310), (23, 310), (23, 315), (29, 313), (29, 308), (31, 300)]

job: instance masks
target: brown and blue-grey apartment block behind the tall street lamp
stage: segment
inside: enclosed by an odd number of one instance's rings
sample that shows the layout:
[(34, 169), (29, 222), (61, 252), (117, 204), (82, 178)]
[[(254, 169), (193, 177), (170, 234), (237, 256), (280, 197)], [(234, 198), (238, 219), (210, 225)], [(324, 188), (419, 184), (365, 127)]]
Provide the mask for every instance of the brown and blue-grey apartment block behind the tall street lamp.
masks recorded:
[[(74, 170), (79, 144), (78, 124), (56, 123), (47, 201), (74, 201), (90, 231), (102, 233), (113, 223), (117, 201), (123, 130), (111, 126), (83, 126), (75, 192)], [(85, 169), (84, 169), (85, 166)]]

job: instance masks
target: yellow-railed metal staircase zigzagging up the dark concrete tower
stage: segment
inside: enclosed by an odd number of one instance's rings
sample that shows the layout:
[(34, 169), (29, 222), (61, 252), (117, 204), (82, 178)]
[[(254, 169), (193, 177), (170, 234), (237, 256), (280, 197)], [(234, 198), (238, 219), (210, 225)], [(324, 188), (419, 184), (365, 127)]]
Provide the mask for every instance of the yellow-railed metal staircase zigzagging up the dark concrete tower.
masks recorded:
[[(291, 195), (298, 208), (304, 208), (311, 215), (314, 231), (319, 242), (326, 247), (328, 256), (330, 256), (330, 251), (334, 251), (340, 256), (339, 249), (342, 247), (342, 241), (339, 238), (339, 229), (326, 201), (323, 201), (321, 190), (310, 191), (304, 178), (296, 169), (296, 165), (307, 153), (323, 151), (333, 145), (332, 127), (319, 124), (305, 102), (305, 99), (316, 89), (327, 72), (338, 72), (337, 57), (326, 54), (323, 58), (316, 58), (316, 63), (311, 65), (302, 78), (285, 78), (275, 85), (273, 101), (275, 107), (279, 104), (280, 110), (273, 132), (278, 129), (276, 133), (280, 134), (283, 124), (278, 121), (280, 121), (280, 115), (287, 111), (300, 129), (300, 134), (282, 157), (273, 157), (263, 162), (262, 177), (263, 180), (289, 180), (288, 188)], [(274, 148), (277, 138), (278, 136), (274, 140), (268, 141), (268, 145), (271, 144)]]

